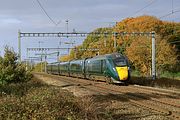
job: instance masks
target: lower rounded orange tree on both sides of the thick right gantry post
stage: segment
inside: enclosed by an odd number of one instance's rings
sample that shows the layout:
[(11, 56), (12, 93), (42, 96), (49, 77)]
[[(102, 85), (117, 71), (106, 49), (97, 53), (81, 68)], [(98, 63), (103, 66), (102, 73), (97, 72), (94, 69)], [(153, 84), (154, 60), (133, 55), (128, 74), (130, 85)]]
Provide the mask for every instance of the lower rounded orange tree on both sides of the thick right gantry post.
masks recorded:
[[(156, 67), (160, 71), (167, 70), (177, 62), (175, 49), (166, 40), (157, 38), (156, 41)], [(138, 37), (126, 49), (133, 66), (144, 76), (151, 72), (151, 50), (151, 39), (147, 37)]]

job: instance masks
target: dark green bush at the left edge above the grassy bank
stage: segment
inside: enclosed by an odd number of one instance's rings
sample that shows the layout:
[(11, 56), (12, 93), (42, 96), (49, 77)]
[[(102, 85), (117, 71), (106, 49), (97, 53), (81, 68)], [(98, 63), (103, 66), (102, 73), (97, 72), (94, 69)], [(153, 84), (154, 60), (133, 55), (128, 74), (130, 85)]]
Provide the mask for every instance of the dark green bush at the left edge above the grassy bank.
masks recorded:
[(30, 71), (17, 62), (17, 55), (9, 47), (5, 47), (4, 58), (0, 58), (0, 84), (25, 82), (31, 79)]

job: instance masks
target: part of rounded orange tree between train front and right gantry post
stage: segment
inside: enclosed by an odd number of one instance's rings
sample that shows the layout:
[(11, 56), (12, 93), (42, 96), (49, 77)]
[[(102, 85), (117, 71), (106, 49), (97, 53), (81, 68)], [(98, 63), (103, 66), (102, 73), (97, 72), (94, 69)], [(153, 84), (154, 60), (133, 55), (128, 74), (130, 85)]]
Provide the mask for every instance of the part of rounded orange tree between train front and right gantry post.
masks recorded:
[(147, 37), (137, 37), (126, 49), (126, 55), (144, 75), (151, 69), (151, 40)]

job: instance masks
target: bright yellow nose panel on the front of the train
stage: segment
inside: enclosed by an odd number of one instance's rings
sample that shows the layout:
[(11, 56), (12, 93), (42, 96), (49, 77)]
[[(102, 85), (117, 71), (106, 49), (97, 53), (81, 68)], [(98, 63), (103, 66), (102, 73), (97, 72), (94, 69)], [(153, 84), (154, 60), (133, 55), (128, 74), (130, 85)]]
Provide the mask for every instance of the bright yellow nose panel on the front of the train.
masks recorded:
[(116, 70), (120, 80), (128, 79), (128, 67), (116, 67)]

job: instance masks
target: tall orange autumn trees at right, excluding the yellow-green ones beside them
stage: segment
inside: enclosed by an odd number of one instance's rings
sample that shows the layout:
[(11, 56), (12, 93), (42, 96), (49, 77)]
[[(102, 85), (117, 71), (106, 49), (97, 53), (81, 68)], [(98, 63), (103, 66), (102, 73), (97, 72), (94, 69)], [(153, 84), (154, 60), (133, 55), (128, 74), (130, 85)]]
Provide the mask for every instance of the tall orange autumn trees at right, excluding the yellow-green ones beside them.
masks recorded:
[[(127, 18), (118, 22), (114, 27), (114, 31), (155, 31), (158, 36), (156, 38), (157, 69), (159, 71), (169, 71), (178, 62), (177, 56), (180, 54), (177, 51), (180, 48), (177, 41), (180, 38), (180, 23), (161, 21), (156, 17), (144, 15), (136, 18)], [(143, 75), (149, 74), (151, 70), (151, 40), (147, 37), (118, 36), (117, 41), (117, 51), (127, 54), (135, 68), (140, 70)]]

